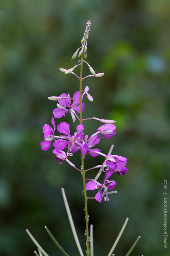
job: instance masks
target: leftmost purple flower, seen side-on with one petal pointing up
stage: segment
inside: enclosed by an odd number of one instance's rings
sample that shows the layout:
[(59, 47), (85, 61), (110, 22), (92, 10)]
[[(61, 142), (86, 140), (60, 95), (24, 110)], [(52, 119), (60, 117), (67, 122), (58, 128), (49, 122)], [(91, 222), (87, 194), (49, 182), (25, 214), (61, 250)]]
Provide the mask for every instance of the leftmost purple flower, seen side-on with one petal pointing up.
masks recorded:
[[(42, 150), (48, 150), (51, 147), (52, 140), (54, 139), (54, 131), (56, 129), (55, 122), (54, 122), (54, 117), (52, 117), (51, 123), (52, 123), (52, 125), (54, 127), (54, 130), (49, 125), (44, 125), (43, 126), (43, 132), (44, 132), (44, 139), (45, 139), (45, 141), (42, 141), (40, 143)], [(56, 137), (58, 137), (58, 136), (56, 136)]]

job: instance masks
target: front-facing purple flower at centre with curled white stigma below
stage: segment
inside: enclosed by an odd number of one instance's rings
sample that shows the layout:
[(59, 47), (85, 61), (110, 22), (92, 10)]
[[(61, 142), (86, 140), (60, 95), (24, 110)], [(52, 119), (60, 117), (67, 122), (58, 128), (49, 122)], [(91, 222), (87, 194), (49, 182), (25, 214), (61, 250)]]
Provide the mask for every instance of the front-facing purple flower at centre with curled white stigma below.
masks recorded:
[[(72, 151), (77, 150), (79, 146), (83, 155), (86, 155), (88, 150), (87, 144), (84, 142), (84, 134), (81, 133), (84, 129), (83, 125), (77, 126), (77, 132), (74, 133), (73, 136), (70, 135), (70, 126), (69, 124), (63, 122), (60, 125), (57, 125), (57, 130), (60, 133), (64, 133), (66, 135), (60, 135), (58, 140), (54, 142), (54, 147), (56, 150), (63, 150), (68, 144), (67, 156), (72, 155)], [(63, 140), (64, 139), (64, 140)]]

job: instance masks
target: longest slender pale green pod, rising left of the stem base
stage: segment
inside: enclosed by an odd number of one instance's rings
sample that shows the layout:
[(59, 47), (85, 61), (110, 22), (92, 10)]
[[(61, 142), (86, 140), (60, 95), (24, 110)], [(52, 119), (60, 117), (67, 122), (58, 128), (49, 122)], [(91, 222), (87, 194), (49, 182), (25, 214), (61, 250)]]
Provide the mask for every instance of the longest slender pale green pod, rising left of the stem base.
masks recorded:
[(67, 198), (66, 198), (66, 194), (65, 194), (64, 188), (62, 188), (62, 195), (63, 195), (64, 204), (65, 204), (65, 207), (66, 207), (68, 219), (69, 219), (69, 222), (70, 222), (70, 226), (71, 226), (71, 230), (72, 230), (72, 232), (73, 232), (73, 236), (74, 236), (75, 242), (76, 242), (76, 244), (77, 244), (77, 247), (78, 247), (78, 250), (79, 250), (80, 255), (81, 255), (81, 256), (84, 256), (84, 255), (83, 255), (83, 252), (82, 252), (82, 248), (81, 248), (81, 246), (80, 246), (80, 242), (79, 242), (77, 233), (76, 233), (76, 231), (75, 231), (73, 219), (72, 219), (72, 216), (71, 216), (71, 212), (70, 212), (70, 208), (69, 208), (69, 205), (68, 205), (68, 202), (67, 202)]

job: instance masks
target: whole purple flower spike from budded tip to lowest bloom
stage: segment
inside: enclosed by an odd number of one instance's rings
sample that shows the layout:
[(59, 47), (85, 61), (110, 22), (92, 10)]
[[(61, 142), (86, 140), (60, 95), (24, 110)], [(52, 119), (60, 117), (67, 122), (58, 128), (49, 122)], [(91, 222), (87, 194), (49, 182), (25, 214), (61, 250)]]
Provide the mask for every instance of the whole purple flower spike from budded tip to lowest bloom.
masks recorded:
[[(83, 60), (83, 56), (86, 59), (87, 58), (87, 39), (88, 34), (90, 30), (91, 22), (87, 22), (86, 30), (84, 32), (83, 38), (81, 40), (82, 46), (77, 49), (77, 51), (73, 54), (72, 60), (77, 57), (81, 57), (81, 60), (78, 61), (78, 65), (75, 65), (74, 67), (66, 70), (61, 68), (60, 71), (67, 74), (74, 74), (76, 77), (78, 77), (81, 80), (81, 84), (83, 79), (86, 77), (102, 77), (104, 73), (98, 73), (94, 71), (94, 69), (89, 65), (88, 62)], [(84, 54), (84, 55), (83, 55)], [(86, 77), (82, 77), (82, 73), (80, 77), (76, 75), (73, 71), (75, 68), (80, 66), (82, 68), (83, 63), (86, 63), (90, 70), (90, 75)], [(95, 179), (90, 179), (89, 182), (87, 182), (86, 187), (84, 189), (86, 190), (95, 190), (98, 189), (98, 192), (95, 196), (95, 199), (101, 203), (102, 198), (104, 198), (105, 201), (108, 201), (108, 194), (114, 193), (115, 191), (108, 192), (108, 190), (113, 189), (116, 186), (116, 182), (114, 180), (108, 180), (113, 173), (117, 173), (119, 175), (124, 175), (128, 169), (126, 166), (126, 158), (118, 155), (111, 155), (112, 152), (109, 152), (107, 155), (101, 153), (101, 150), (99, 148), (94, 148), (95, 145), (99, 144), (101, 139), (110, 139), (112, 136), (116, 134), (116, 126), (114, 125), (114, 120), (107, 120), (107, 119), (100, 119), (97, 117), (90, 117), (86, 119), (82, 119), (82, 112), (85, 108), (85, 103), (83, 101), (83, 96), (87, 95), (87, 99), (89, 101), (93, 101), (92, 96), (89, 94), (89, 87), (86, 86), (84, 90), (82, 90), (82, 87), (80, 87), (80, 91), (76, 91), (73, 95), (73, 98), (70, 97), (70, 94), (62, 93), (60, 96), (51, 96), (48, 99), (52, 101), (58, 101), (57, 108), (53, 110), (53, 115), (51, 123), (53, 125), (53, 128), (51, 128), (49, 125), (43, 126), (43, 132), (44, 132), (44, 141), (41, 142), (41, 149), (42, 150), (48, 150), (51, 147), (52, 140), (54, 150), (53, 154), (55, 155), (55, 160), (62, 164), (63, 162), (67, 161), (72, 167), (74, 167), (76, 170), (79, 170), (80, 172), (88, 171), (94, 168), (100, 168), (99, 173), (97, 174)], [(77, 113), (76, 113), (77, 112)], [(60, 124), (56, 125), (54, 122), (54, 118), (63, 118), (67, 113), (71, 114), (71, 118), (73, 123), (76, 122), (76, 120), (80, 121), (80, 124), (77, 125), (76, 131), (73, 135), (70, 133), (70, 125), (66, 122), (61, 122)], [(79, 115), (80, 114), (80, 115)], [(102, 126), (100, 126), (96, 132), (91, 134), (91, 136), (88, 139), (88, 135), (84, 135), (84, 125), (82, 124), (87, 119), (96, 119), (100, 121), (101, 123), (104, 123)], [(54, 135), (54, 133), (57, 130), (57, 135)], [(65, 150), (66, 151), (63, 151)], [(75, 167), (75, 165), (68, 160), (68, 157), (71, 157), (73, 154), (75, 154), (77, 151), (81, 151), (81, 154), (83, 155), (83, 159), (85, 158), (86, 154), (90, 154), (92, 157), (97, 157), (98, 155), (104, 156), (104, 161), (101, 165), (92, 167), (88, 170), (83, 170), (82, 167), (78, 169)], [(84, 164), (83, 164), (84, 165)], [(104, 181), (99, 183), (97, 181), (97, 178), (99, 175), (105, 172)], [(89, 180), (89, 179), (88, 179)]]

